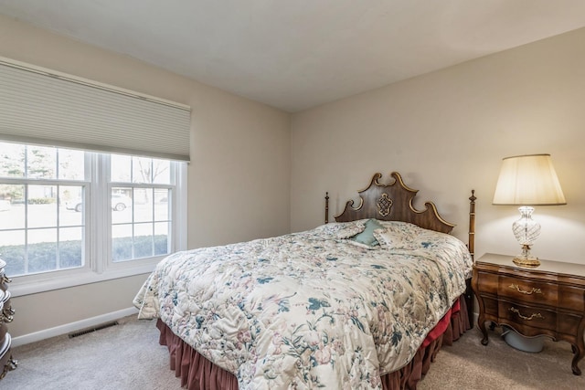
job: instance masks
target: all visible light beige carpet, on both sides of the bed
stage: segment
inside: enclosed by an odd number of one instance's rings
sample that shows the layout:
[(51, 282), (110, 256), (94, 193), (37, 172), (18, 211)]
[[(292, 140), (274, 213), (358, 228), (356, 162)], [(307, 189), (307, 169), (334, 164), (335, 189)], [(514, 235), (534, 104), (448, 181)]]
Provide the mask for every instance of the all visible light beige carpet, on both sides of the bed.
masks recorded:
[[(18, 368), (0, 381), (2, 390), (179, 390), (166, 347), (154, 321), (133, 316), (120, 325), (69, 339), (67, 335), (16, 348)], [(523, 353), (495, 332), (480, 343), (478, 330), (443, 346), (420, 382), (435, 389), (585, 389), (585, 377), (570, 371), (568, 343), (547, 341), (541, 353)], [(580, 364), (585, 371), (585, 360)]]

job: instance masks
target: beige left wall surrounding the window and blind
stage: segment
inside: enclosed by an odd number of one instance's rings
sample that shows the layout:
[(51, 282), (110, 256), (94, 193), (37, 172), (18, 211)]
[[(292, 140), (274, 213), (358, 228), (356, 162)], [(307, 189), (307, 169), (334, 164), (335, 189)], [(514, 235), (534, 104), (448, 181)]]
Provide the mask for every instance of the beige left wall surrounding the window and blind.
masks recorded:
[[(191, 106), (189, 248), (288, 233), (288, 113), (5, 16), (0, 56)], [(19, 336), (129, 308), (144, 279), (16, 297), (10, 332)]]

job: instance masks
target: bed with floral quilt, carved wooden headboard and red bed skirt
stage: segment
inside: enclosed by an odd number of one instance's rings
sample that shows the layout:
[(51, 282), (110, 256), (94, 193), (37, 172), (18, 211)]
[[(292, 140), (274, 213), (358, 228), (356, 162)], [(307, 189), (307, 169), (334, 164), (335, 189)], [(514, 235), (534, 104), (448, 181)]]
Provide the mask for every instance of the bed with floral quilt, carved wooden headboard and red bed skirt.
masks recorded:
[(416, 388), (470, 328), (469, 243), (417, 190), (375, 174), (335, 222), (282, 237), (178, 252), (133, 300), (156, 319), (189, 389)]

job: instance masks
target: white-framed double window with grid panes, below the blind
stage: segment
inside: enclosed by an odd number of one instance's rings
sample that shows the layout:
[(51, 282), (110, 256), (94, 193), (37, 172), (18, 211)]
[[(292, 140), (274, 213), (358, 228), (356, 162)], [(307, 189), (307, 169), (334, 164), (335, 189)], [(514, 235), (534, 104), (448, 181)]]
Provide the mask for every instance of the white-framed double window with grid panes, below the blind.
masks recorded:
[(0, 142), (0, 258), (15, 289), (148, 272), (185, 248), (185, 174), (169, 160)]

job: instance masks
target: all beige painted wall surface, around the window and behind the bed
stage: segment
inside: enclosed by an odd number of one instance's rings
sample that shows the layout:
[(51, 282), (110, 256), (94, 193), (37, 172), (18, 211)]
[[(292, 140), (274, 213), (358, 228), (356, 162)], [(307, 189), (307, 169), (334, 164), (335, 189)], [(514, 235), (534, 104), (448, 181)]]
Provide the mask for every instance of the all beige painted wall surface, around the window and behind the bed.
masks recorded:
[[(516, 253), (516, 208), (491, 205), (500, 161), (551, 153), (569, 205), (537, 208), (543, 230), (533, 250), (585, 263), (584, 39), (578, 30), (289, 116), (0, 16), (0, 56), (193, 108), (189, 248), (314, 227), (325, 191), (333, 216), (372, 174), (398, 171), (420, 190), (415, 206), (435, 201), (465, 240), (474, 188), (476, 252)], [(127, 308), (144, 279), (16, 297), (11, 333)]]

